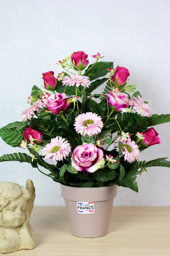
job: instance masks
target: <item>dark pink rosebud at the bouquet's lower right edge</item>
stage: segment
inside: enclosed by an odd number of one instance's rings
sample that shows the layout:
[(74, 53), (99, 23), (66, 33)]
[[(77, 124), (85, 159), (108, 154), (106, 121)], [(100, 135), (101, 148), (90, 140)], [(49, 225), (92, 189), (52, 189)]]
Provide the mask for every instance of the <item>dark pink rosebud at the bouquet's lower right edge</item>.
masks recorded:
[(157, 136), (159, 134), (153, 127), (148, 128), (145, 132), (141, 132), (141, 134), (145, 137), (143, 143), (149, 143), (147, 147), (160, 143), (160, 138)]

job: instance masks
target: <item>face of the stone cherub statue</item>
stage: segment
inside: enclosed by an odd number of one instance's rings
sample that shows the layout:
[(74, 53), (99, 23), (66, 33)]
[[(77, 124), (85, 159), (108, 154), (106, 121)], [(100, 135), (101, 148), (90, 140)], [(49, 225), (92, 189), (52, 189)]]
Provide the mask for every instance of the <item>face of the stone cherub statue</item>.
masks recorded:
[(26, 219), (26, 207), (27, 201), (24, 196), (20, 196), (10, 202), (1, 212), (0, 226), (16, 228), (22, 225)]

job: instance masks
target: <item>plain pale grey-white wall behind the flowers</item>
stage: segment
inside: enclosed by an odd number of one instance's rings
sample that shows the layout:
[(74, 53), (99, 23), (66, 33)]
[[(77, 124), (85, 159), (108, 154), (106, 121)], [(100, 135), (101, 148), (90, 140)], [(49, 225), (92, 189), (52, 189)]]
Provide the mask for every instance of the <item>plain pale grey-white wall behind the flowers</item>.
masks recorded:
[[(89, 61), (100, 52), (104, 61), (129, 69), (154, 113), (169, 113), (169, 26), (167, 0), (1, 0), (1, 127), (21, 121), (22, 110), (41, 74), (73, 51), (85, 51)], [(102, 90), (102, 88), (100, 89)], [(169, 157), (170, 124), (155, 127), (161, 144), (148, 148), (140, 160)], [(0, 138), (1, 139), (1, 138)], [(27, 152), (0, 140), (0, 156)], [(0, 164), (0, 181), (25, 186), (32, 179), (35, 205), (64, 205), (60, 185), (26, 163)], [(148, 168), (138, 177), (139, 193), (118, 188), (114, 205), (170, 205), (169, 168)]]

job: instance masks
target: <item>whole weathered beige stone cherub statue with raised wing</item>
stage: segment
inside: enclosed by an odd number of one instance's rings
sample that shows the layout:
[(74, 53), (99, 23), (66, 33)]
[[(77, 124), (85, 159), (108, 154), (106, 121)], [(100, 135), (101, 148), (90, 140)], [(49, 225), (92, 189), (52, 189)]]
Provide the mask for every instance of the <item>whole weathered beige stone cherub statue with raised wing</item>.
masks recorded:
[(36, 246), (36, 236), (29, 225), (34, 199), (32, 180), (27, 180), (26, 188), (17, 183), (0, 182), (0, 253)]

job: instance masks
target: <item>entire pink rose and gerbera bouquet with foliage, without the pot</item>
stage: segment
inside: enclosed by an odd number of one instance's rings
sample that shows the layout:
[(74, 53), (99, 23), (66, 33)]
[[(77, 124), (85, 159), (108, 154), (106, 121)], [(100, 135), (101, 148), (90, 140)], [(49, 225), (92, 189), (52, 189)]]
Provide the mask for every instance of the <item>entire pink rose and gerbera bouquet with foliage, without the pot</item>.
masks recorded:
[[(89, 65), (85, 52), (73, 52), (57, 63), (64, 68), (57, 77), (52, 71), (43, 73), (43, 89), (32, 87), (27, 102), (31, 106), (21, 113), (23, 122), (0, 129), (8, 145), (29, 153), (6, 154), (0, 161), (30, 163), (66, 186), (117, 184), (138, 192), (138, 174), (150, 166), (170, 167), (167, 157), (138, 160), (143, 150), (160, 143), (153, 126), (170, 122), (170, 115), (152, 115), (148, 102), (134, 92), (136, 84), (127, 84), (127, 68), (99, 61), (99, 53), (92, 57), (96, 62)], [(94, 94), (103, 83), (104, 92)]]

